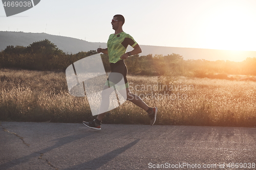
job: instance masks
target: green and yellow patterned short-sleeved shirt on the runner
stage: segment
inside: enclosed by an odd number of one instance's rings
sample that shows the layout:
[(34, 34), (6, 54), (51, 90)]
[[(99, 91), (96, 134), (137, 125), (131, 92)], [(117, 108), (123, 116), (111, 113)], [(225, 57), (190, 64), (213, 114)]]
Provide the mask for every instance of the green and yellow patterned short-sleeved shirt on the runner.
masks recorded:
[(106, 44), (108, 46), (109, 61), (110, 63), (116, 63), (121, 60), (120, 57), (126, 52), (128, 45), (134, 47), (137, 42), (133, 37), (125, 32), (119, 34), (111, 34)]

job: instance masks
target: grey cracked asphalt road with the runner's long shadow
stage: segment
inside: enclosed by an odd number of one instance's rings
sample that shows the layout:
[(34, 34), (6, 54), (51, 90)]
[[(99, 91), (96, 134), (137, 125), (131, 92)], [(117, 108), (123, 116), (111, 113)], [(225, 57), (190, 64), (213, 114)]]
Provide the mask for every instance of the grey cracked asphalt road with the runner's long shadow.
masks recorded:
[(16, 122), (0, 128), (1, 170), (256, 169), (255, 128), (102, 125), (96, 131)]

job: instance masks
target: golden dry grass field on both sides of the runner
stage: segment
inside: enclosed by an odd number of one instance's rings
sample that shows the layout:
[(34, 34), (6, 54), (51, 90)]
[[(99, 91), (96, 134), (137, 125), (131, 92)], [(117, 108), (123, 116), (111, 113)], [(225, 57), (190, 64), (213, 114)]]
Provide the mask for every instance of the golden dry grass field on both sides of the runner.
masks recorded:
[[(156, 125), (256, 126), (256, 82), (193, 77), (128, 76), (130, 89), (159, 109)], [(65, 73), (0, 69), (0, 120), (81, 123), (91, 120), (87, 98), (68, 92)], [(149, 124), (126, 101), (103, 123)]]

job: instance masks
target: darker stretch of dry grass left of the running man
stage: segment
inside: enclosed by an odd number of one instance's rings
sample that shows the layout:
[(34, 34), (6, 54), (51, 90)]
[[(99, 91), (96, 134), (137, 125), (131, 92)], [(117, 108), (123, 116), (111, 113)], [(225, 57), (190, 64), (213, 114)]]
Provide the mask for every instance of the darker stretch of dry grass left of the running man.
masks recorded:
[(1, 120), (79, 122), (91, 116), (86, 98), (68, 93), (63, 72), (2, 69), (0, 82)]

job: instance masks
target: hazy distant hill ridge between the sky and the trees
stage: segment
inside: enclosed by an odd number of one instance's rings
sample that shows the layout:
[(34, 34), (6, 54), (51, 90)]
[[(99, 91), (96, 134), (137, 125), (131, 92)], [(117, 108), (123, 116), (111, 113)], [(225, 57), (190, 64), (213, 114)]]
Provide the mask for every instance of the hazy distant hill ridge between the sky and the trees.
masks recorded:
[[(46, 33), (24, 33), (24, 32), (8, 32), (0, 31), (0, 50), (5, 50), (8, 45), (21, 45), (28, 46), (29, 44), (48, 39), (53, 42), (57, 47), (65, 53), (76, 54), (78, 52), (88, 52), (90, 50), (96, 50), (99, 46), (102, 48), (106, 47), (104, 42), (88, 42), (85, 40), (50, 35)], [(167, 47), (167, 46), (151, 46), (142, 45), (142, 53), (140, 56), (148, 54), (179, 54), (183, 56), (185, 60), (189, 59), (205, 59), (209, 61), (216, 60), (230, 60), (230, 61), (242, 61), (247, 57), (256, 57), (255, 51), (228, 51), (228, 50), (213, 50), (204, 48), (184, 48), (184, 47)], [(128, 50), (131, 50), (129, 47)]]

